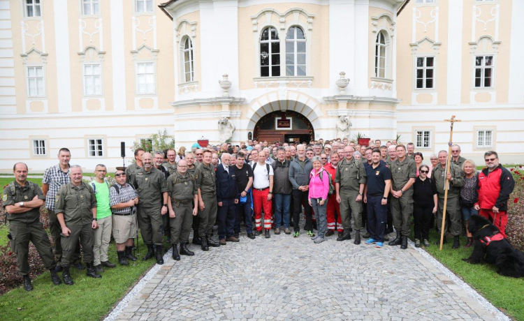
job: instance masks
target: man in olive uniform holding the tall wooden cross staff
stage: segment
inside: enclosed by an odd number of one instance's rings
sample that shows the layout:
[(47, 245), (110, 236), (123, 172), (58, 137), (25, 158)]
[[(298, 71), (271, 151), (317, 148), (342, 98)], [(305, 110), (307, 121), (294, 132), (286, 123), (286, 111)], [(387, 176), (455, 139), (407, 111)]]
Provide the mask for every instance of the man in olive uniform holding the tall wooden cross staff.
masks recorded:
[[(460, 188), (464, 185), (463, 172), (458, 165), (451, 162), (450, 172), (446, 173), (446, 161), (448, 159), (447, 151), (439, 151), (439, 165), (433, 167), (431, 172), (431, 181), (437, 190), (439, 203), (437, 211), (437, 229), (439, 235), (442, 232), (442, 214), (444, 212), (444, 184), (446, 178), (449, 180), (448, 202), (446, 205), (446, 216), (451, 222), (451, 234), (453, 235), (453, 248), (460, 248), (459, 236), (462, 232), (462, 223), (460, 222), (460, 211), (458, 211), (458, 200), (460, 199)], [(444, 243), (446, 243), (446, 232), (448, 225), (444, 225)], [(440, 244), (437, 242), (436, 244)]]

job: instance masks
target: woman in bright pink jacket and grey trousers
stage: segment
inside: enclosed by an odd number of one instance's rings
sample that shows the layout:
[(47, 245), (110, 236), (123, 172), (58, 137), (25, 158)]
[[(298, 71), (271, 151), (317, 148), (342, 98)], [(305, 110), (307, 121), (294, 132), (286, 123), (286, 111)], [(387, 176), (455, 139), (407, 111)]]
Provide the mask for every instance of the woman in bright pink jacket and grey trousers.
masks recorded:
[(316, 237), (312, 237), (312, 240), (319, 244), (324, 241), (328, 226), (326, 208), (329, 193), (329, 174), (322, 168), (319, 156), (313, 156), (311, 162), (313, 163), (313, 170), (310, 173), (310, 194), (307, 198), (315, 214), (316, 230), (318, 232)]

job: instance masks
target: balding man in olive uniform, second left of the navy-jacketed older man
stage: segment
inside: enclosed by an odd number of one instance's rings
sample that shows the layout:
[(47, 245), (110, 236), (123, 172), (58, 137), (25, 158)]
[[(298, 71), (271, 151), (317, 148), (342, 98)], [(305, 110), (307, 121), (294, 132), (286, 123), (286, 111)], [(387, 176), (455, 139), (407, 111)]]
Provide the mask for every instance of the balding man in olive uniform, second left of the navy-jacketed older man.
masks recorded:
[(193, 216), (198, 213), (198, 191), (194, 176), (187, 172), (185, 160), (178, 161), (177, 172), (168, 178), (168, 209), (169, 226), (171, 229), (171, 244), (173, 246), (173, 259), (180, 260), (177, 244), (180, 241), (180, 254), (195, 255), (189, 251), (189, 233)]

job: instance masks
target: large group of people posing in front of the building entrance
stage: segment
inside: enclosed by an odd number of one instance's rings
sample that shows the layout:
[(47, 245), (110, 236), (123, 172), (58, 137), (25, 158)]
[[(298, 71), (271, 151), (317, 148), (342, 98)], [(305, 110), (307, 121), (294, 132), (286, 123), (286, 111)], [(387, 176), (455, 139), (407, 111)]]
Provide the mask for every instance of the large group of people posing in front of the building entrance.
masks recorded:
[[(29, 241), (50, 270), (52, 282), (60, 284), (57, 272), (63, 271), (64, 283), (72, 285), (70, 267), (85, 269), (80, 249), (87, 276), (100, 278), (104, 267), (116, 266), (108, 259), (111, 235), (119, 264), (137, 260), (133, 239), (138, 228), (147, 246), (143, 260), (154, 257), (158, 264), (163, 264), (164, 237), (173, 259), (180, 260), (180, 255), (194, 255), (189, 249), (191, 229), (192, 242), (209, 251), (240, 241), (242, 223), (249, 239), (261, 234), (270, 238), (271, 230), (300, 237), (302, 215), (303, 230), (315, 244), (337, 230), (337, 241), (353, 236), (354, 244), (361, 244), (364, 232), (366, 244), (381, 248), (395, 230), (388, 245), (402, 249), (407, 248), (413, 216), (415, 246), (430, 246), (435, 214), (439, 232), (443, 226), (446, 184), (444, 232), (453, 236), (453, 248), (460, 247), (463, 227), (465, 246), (472, 245), (467, 232), (471, 215), (490, 218), (505, 237), (507, 200), (514, 188), (511, 173), (499, 164), (495, 151), (485, 153), (486, 168), (480, 173), (472, 160), (460, 156), (458, 145), (451, 152), (448, 172), (447, 151), (431, 155), (427, 165), (414, 144), (395, 141), (360, 146), (347, 139), (309, 144), (248, 140), (236, 146), (195, 144), (189, 152), (182, 147), (154, 154), (138, 148), (135, 162), (117, 167), (114, 181), (108, 181), (107, 167), (99, 164), (94, 180), (87, 183), (82, 168), (69, 165), (71, 152), (63, 148), (59, 163), (45, 170), (42, 189), (27, 181), (27, 165), (16, 163), (15, 181), (3, 191), (3, 207), (26, 290), (33, 288)], [(39, 223), (44, 204), (54, 253)], [(212, 238), (215, 224), (218, 240)]]

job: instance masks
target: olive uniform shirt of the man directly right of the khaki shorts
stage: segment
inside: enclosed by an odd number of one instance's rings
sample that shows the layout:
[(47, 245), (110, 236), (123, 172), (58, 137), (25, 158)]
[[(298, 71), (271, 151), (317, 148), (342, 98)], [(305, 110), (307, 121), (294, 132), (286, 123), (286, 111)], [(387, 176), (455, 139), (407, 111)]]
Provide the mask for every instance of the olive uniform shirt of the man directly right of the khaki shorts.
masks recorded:
[(168, 191), (166, 177), (154, 167), (147, 172), (144, 168), (137, 170), (131, 179), (131, 185), (136, 189), (140, 198), (140, 207), (154, 208), (163, 203), (162, 193)]

